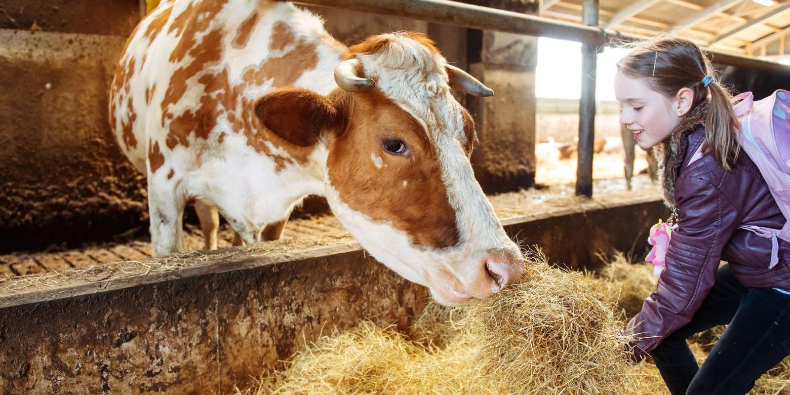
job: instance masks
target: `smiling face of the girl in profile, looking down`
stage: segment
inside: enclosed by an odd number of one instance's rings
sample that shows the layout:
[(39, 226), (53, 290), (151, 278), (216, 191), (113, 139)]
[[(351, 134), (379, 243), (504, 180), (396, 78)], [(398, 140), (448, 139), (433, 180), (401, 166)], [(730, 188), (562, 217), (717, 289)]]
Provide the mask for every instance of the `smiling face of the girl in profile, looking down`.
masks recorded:
[(641, 149), (649, 149), (672, 134), (687, 111), (679, 98), (668, 99), (648, 84), (647, 78), (630, 77), (618, 71), (615, 96), (620, 102), (620, 123), (634, 134)]

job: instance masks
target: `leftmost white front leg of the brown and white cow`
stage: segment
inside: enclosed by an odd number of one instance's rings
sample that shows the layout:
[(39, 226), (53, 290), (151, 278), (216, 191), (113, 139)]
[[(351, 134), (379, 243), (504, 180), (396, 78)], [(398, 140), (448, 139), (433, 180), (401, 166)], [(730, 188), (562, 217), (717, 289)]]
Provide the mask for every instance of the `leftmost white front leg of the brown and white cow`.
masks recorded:
[(185, 252), (183, 216), (186, 199), (167, 186), (149, 182), (151, 249), (154, 256)]

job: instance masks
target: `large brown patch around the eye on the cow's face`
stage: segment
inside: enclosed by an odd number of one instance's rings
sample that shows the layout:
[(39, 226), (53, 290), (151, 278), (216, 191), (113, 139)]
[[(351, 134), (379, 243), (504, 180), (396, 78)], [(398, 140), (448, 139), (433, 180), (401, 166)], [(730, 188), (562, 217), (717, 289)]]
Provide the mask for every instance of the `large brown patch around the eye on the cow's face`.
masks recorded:
[[(347, 122), (327, 160), (329, 180), (340, 199), (373, 220), (393, 224), (417, 246), (456, 246), (461, 235), (437, 152), (416, 119), (378, 88), (353, 94), (336, 89), (330, 98)], [(387, 137), (404, 141), (408, 156), (384, 152), (382, 141)], [(376, 167), (371, 152), (386, 166)], [(403, 187), (404, 180), (408, 188)]]

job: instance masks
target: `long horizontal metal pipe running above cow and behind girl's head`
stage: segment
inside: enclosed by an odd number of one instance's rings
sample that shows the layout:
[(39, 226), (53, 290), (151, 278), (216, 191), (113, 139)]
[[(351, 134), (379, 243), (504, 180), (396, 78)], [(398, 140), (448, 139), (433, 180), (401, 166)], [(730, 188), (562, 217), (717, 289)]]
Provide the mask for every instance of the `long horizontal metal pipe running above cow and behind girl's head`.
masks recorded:
[[(641, 40), (611, 29), (555, 21), (502, 9), (473, 6), (450, 0), (296, 0), (310, 6), (352, 9), (367, 13), (410, 17), (419, 21), (453, 24), (466, 28), (510, 32), (527, 36), (544, 36), (572, 40), (597, 46)], [(749, 58), (708, 50), (721, 65), (740, 66), (768, 72), (790, 73), (790, 66), (779, 62)]]

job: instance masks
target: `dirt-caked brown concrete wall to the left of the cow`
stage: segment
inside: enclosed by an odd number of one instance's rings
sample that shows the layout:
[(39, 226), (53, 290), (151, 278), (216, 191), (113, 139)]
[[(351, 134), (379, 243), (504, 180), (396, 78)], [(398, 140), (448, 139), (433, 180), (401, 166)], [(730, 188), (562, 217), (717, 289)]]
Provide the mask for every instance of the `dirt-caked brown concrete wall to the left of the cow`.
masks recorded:
[(125, 42), (0, 29), (0, 252), (100, 239), (141, 222), (145, 177), (107, 122)]

